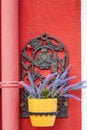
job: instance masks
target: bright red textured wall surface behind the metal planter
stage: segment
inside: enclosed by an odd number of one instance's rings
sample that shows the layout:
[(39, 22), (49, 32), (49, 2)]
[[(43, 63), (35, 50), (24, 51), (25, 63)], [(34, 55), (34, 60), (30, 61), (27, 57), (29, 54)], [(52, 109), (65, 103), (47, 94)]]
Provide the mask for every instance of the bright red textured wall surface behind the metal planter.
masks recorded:
[[(70, 75), (81, 75), (80, 0), (19, 0), (21, 51), (30, 39), (46, 32), (60, 39), (72, 64)], [(74, 83), (73, 81), (72, 83)], [(80, 96), (81, 92), (72, 92)], [(20, 118), (20, 130), (81, 130), (81, 102), (69, 99), (68, 118), (59, 118), (51, 128), (34, 128), (28, 118)]]

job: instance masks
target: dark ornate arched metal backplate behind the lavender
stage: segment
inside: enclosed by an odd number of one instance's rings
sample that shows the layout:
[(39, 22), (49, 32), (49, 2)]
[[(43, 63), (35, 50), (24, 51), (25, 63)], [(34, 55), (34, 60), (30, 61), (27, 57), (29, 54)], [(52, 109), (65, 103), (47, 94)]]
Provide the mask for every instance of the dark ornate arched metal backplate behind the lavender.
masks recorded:
[[(22, 51), (22, 80), (28, 82), (27, 71), (31, 72), (35, 84), (40, 84), (48, 73), (58, 72), (61, 75), (68, 66), (68, 53), (62, 42), (53, 36), (43, 33), (30, 40)], [(28, 93), (21, 89), (20, 116), (29, 117)], [(57, 117), (67, 117), (67, 98), (58, 99)]]

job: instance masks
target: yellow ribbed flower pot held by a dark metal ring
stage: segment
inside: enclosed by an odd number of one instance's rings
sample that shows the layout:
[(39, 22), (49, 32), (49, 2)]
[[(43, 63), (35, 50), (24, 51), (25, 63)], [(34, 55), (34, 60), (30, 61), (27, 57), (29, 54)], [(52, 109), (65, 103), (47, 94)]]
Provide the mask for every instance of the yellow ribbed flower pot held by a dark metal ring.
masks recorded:
[(57, 112), (57, 98), (28, 99), (28, 110), (32, 126), (53, 126)]

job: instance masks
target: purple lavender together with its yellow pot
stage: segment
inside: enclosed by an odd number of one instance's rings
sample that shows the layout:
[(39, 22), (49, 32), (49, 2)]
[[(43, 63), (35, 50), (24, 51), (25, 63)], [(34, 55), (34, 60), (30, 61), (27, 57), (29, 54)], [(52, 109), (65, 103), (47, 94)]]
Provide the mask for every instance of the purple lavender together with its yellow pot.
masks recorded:
[(67, 76), (69, 69), (70, 65), (61, 75), (58, 72), (48, 74), (38, 85), (35, 85), (29, 71), (28, 80), (30, 85), (21, 81), (22, 86), (29, 93), (28, 111), (32, 126), (47, 127), (54, 125), (59, 97), (70, 97), (80, 100), (79, 97), (68, 93), (68, 91), (86, 88), (87, 81), (68, 85), (68, 81), (76, 78), (76, 76)]

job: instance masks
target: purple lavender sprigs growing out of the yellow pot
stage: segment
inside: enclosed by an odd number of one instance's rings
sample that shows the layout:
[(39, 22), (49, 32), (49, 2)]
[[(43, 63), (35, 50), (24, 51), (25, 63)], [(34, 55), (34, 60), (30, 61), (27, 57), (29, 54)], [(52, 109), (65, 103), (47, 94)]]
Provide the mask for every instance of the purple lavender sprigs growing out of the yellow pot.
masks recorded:
[(70, 90), (79, 90), (86, 88), (87, 81), (81, 81), (75, 84), (68, 85), (67, 82), (76, 78), (76, 76), (67, 77), (70, 66), (59, 75), (57, 72), (48, 74), (40, 85), (35, 86), (33, 78), (28, 71), (28, 79), (30, 86), (22, 81), (22, 86), (28, 91), (29, 98), (56, 98), (56, 97), (70, 97), (80, 100), (79, 97), (67, 93)]

